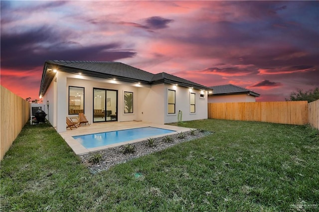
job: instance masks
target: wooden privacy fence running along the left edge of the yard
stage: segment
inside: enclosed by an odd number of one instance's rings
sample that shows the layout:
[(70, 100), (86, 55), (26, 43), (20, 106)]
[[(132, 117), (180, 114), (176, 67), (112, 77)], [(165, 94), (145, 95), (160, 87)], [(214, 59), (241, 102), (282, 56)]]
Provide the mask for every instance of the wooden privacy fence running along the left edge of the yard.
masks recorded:
[(30, 103), (0, 86), (0, 160), (30, 117)]

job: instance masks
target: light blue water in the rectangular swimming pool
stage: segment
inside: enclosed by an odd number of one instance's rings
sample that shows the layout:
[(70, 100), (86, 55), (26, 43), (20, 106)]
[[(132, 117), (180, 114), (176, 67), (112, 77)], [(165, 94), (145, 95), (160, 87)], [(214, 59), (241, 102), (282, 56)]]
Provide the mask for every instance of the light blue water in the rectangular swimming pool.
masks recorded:
[(135, 129), (125, 129), (111, 132), (102, 132), (88, 135), (72, 136), (85, 148), (106, 146), (140, 138), (150, 138), (151, 136), (175, 132), (174, 130), (161, 129), (156, 127), (141, 127)]

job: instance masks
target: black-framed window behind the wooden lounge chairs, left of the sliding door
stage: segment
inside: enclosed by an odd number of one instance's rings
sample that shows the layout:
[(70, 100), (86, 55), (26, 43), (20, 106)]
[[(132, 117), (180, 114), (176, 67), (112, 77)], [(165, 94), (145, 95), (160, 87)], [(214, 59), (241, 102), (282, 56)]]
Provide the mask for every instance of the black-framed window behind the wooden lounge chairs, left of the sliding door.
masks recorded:
[(84, 113), (84, 88), (69, 86), (69, 115)]

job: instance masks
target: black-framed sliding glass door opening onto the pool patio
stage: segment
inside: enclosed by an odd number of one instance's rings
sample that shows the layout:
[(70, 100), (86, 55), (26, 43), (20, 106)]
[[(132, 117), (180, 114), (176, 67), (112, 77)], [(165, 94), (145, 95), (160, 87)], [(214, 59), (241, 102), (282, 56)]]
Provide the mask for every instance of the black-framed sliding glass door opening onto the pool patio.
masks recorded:
[(93, 122), (117, 121), (118, 91), (93, 89)]

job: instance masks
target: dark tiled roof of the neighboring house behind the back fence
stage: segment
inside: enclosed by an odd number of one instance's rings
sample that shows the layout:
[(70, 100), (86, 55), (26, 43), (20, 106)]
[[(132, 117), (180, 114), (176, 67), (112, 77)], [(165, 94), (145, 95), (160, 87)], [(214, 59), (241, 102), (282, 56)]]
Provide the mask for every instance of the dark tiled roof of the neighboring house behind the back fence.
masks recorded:
[(214, 90), (213, 94), (209, 96), (217, 96), (217, 95), (234, 95), (234, 94), (249, 94), (254, 97), (259, 97), (260, 94), (257, 94), (248, 89), (242, 88), (240, 86), (235, 86), (232, 84), (221, 85), (221, 86), (211, 86), (209, 87)]

